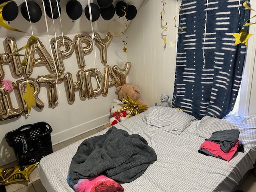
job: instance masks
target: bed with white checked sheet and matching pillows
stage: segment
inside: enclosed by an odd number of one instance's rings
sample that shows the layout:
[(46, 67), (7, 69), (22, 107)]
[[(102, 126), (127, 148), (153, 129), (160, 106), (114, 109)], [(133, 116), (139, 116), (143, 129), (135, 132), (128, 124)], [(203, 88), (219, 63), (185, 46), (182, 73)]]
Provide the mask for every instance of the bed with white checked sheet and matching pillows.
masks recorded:
[[(223, 119), (205, 116), (197, 120), (175, 108), (153, 106), (114, 126), (142, 136), (157, 155), (144, 174), (121, 184), (125, 192), (232, 192), (256, 160), (256, 116), (228, 114)], [(213, 132), (229, 129), (240, 131), (244, 152), (236, 152), (230, 161), (198, 152)], [(108, 128), (88, 138), (107, 131)], [(40, 160), (40, 180), (47, 192), (74, 192), (67, 175), (82, 142)]]

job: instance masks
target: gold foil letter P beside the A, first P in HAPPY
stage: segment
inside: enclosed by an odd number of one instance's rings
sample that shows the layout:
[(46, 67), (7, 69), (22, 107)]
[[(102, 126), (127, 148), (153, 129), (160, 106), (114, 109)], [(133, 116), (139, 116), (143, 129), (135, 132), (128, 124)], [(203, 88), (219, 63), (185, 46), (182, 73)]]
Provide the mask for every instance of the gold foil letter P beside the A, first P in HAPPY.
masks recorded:
[[(54, 56), (55, 63), (58, 64), (58, 71), (64, 71), (65, 67), (63, 64), (63, 58), (68, 58), (74, 52), (74, 43), (69, 37), (59, 36), (51, 39), (52, 53)], [(64, 50), (61, 50), (64, 47)]]

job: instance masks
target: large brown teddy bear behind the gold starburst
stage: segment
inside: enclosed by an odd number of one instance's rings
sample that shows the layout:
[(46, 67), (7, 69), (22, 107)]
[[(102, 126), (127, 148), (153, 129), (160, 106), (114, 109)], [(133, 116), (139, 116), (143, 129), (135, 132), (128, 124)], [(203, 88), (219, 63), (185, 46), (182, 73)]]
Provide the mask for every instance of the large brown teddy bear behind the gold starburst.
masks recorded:
[(140, 105), (146, 105), (146, 103), (140, 98), (140, 89), (136, 87), (134, 84), (131, 83), (125, 83), (121, 86), (118, 86), (116, 88), (116, 94), (118, 94), (118, 98), (126, 98), (127, 94), (132, 98), (132, 100), (138, 99), (138, 104)]

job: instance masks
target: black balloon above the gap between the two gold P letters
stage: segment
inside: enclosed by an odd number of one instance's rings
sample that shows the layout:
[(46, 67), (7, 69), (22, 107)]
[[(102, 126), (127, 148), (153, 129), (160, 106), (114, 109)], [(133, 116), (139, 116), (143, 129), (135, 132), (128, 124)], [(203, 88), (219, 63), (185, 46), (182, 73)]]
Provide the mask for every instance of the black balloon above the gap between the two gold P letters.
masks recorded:
[(70, 0), (66, 4), (66, 12), (70, 19), (77, 20), (83, 13), (82, 5), (77, 0)]

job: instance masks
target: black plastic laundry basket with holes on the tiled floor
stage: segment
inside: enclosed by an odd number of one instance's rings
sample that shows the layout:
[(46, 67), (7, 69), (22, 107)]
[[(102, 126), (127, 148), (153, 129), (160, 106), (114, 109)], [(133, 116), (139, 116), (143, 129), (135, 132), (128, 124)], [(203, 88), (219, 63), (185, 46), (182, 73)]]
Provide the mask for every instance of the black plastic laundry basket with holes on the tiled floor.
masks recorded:
[(31, 165), (52, 153), (51, 132), (48, 123), (38, 122), (8, 132), (5, 139), (14, 149), (20, 166)]

